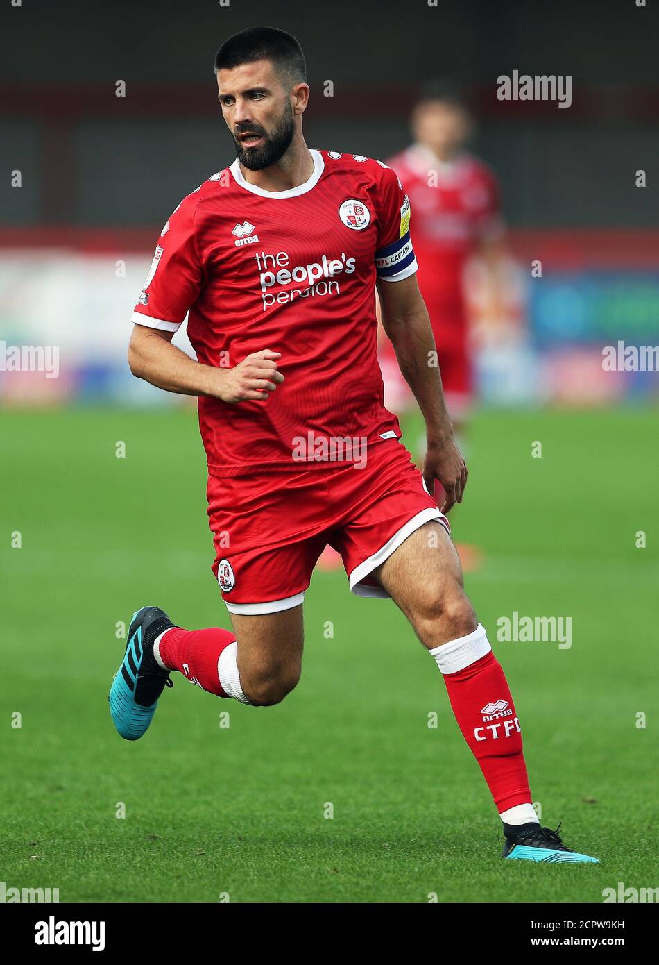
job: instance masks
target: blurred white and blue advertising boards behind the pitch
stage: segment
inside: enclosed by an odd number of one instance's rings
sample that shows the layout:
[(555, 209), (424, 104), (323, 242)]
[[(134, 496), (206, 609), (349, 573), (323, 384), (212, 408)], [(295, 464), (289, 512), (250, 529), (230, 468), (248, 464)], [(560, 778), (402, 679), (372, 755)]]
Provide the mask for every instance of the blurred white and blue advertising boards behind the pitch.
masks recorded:
[[(0, 232), (0, 400), (179, 401), (125, 360), (156, 234)], [(484, 403), (656, 398), (659, 232), (511, 231), (504, 276), (496, 298), (479, 262), (465, 280)], [(184, 326), (175, 342), (194, 356)]]

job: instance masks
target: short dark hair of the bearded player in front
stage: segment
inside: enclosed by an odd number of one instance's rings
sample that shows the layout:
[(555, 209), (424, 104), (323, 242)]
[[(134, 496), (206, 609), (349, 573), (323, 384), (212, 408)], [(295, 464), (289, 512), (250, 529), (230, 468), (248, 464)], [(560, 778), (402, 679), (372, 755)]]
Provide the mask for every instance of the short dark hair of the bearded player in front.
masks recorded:
[(291, 83), (307, 82), (302, 47), (292, 34), (276, 27), (249, 27), (233, 34), (215, 54), (215, 70), (232, 70), (258, 60), (271, 61)]

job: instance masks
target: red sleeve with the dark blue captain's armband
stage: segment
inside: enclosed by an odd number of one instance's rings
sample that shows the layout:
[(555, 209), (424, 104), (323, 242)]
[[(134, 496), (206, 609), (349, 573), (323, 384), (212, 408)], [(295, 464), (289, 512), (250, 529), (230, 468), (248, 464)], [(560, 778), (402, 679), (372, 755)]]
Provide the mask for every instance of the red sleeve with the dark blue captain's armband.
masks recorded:
[(400, 282), (418, 270), (410, 238), (410, 203), (396, 172), (381, 161), (384, 169), (379, 194), (379, 234), (375, 251), (377, 277)]

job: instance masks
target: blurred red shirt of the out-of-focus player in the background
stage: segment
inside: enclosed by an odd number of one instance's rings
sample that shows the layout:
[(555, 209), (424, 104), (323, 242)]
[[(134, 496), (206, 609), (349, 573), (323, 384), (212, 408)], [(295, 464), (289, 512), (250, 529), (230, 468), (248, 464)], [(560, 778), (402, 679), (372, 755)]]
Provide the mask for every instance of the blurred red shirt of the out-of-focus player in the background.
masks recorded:
[(481, 238), (503, 231), (497, 181), (470, 154), (443, 164), (420, 145), (387, 163), (404, 181), (414, 207), (412, 241), (419, 259), (419, 288), (435, 341), (462, 345), (467, 333), (465, 262)]

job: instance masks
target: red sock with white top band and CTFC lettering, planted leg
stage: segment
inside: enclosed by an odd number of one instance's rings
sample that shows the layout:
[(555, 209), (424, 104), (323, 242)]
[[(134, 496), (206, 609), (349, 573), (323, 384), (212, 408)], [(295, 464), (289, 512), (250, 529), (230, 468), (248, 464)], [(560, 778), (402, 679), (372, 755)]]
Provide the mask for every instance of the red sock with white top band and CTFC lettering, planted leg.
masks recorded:
[(530, 804), (519, 720), (506, 676), (481, 624), (468, 636), (430, 652), (444, 675), (457, 725), (481, 766), (497, 808), (502, 812)]

